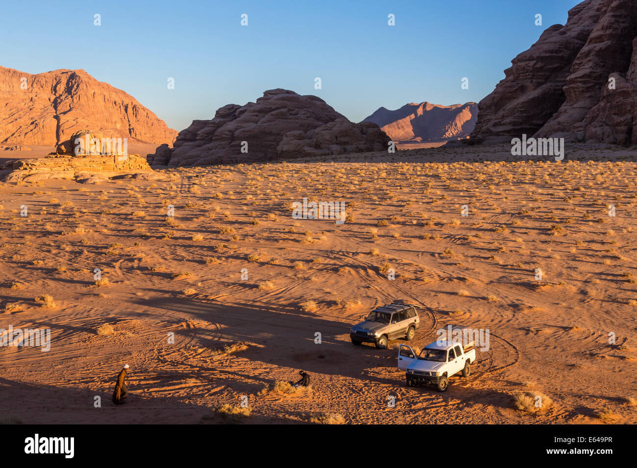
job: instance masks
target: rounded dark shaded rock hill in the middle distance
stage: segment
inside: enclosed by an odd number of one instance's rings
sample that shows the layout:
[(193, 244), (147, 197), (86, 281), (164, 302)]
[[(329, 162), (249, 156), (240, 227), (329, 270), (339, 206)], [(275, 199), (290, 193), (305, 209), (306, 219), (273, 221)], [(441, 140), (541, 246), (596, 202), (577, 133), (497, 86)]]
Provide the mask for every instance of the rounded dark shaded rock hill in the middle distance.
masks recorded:
[[(325, 134), (323, 139), (316, 139), (319, 127), (336, 120), (342, 122), (320, 132), (334, 131), (338, 126), (337, 136)], [(273, 89), (264, 92), (256, 103), (228, 104), (217, 110), (212, 120), (194, 120), (179, 133), (173, 150), (159, 148), (148, 160), (152, 166), (266, 161), (310, 155), (313, 150), (336, 152), (335, 148), (326, 148), (326, 141), (331, 142), (328, 146), (376, 147), (374, 143), (378, 138), (380, 136), (368, 127), (357, 127), (349, 122), (319, 97)], [(286, 143), (282, 145), (284, 139)], [(303, 143), (292, 143), (296, 139)]]

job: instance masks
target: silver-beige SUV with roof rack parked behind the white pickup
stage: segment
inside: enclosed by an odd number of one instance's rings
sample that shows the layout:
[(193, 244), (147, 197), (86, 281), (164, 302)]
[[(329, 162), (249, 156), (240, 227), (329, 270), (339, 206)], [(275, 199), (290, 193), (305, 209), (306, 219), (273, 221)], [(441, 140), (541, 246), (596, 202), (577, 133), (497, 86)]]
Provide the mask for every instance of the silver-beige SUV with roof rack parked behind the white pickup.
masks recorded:
[(374, 309), (363, 322), (350, 330), (350, 339), (355, 345), (362, 342), (374, 343), (376, 348), (384, 350), (390, 339), (404, 337), (412, 341), (416, 329), (420, 327), (420, 317), (416, 311), (420, 306), (392, 303)]

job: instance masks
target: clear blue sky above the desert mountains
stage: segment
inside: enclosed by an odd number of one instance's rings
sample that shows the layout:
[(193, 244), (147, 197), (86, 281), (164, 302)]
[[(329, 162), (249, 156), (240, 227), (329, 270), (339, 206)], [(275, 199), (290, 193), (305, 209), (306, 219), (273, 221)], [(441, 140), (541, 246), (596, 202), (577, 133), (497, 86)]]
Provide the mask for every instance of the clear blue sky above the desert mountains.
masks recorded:
[[(177, 130), (273, 88), (315, 94), (359, 122), (380, 106), (480, 101), (513, 57), (550, 25), (564, 24), (578, 3), (5, 0), (0, 65), (27, 73), (85, 69)], [(395, 26), (387, 25), (390, 13)], [(536, 13), (542, 26), (534, 25)]]

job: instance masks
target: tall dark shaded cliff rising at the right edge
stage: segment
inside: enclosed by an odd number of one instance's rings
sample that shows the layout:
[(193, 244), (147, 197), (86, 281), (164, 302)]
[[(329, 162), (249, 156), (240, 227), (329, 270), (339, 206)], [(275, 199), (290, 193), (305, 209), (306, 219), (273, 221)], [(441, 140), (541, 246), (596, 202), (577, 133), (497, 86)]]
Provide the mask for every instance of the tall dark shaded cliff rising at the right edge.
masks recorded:
[[(637, 2), (586, 0), (512, 60), (478, 108), (471, 138), (528, 134), (637, 144)], [(615, 78), (611, 89), (610, 78)]]

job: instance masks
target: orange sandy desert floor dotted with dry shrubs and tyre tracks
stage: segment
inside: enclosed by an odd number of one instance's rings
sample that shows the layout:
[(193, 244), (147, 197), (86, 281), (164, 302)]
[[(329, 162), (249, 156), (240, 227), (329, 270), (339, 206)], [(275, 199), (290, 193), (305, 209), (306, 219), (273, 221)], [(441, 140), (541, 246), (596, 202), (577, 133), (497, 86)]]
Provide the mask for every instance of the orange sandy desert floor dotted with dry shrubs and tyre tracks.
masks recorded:
[[(52, 333), (48, 352), (0, 348), (3, 421), (218, 422), (211, 408), (247, 397), (247, 423), (637, 422), (637, 152), (471, 162), (507, 151), (2, 184), (0, 327)], [(303, 197), (345, 202), (347, 222), (292, 219)], [(353, 346), (350, 325), (392, 299), (426, 306), (417, 348), (447, 323), (489, 329), (473, 374), (445, 393), (408, 388), (403, 340)], [(104, 324), (113, 332), (97, 334)], [(116, 407), (125, 363), (131, 395)], [(311, 390), (261, 393), (299, 369)], [(520, 390), (553, 403), (520, 411)]]

